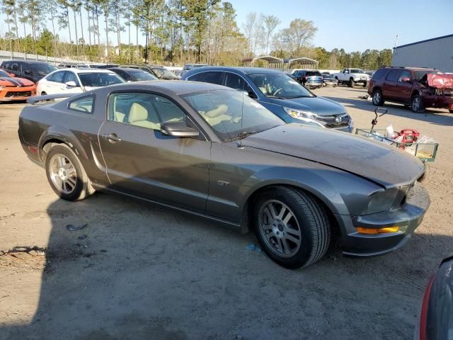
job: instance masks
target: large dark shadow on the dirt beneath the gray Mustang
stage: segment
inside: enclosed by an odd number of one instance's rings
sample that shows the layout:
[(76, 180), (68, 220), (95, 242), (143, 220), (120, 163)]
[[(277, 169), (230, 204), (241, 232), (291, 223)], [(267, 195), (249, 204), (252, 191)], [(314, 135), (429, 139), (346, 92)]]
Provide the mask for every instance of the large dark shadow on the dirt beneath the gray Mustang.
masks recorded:
[(334, 245), (290, 271), (251, 250), (251, 233), (127, 197), (55, 200), (47, 215), (38, 309), (3, 325), (2, 340), (407, 339), (453, 245), (416, 233), (372, 259)]

